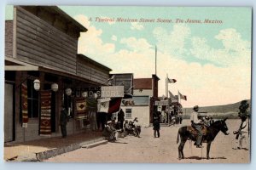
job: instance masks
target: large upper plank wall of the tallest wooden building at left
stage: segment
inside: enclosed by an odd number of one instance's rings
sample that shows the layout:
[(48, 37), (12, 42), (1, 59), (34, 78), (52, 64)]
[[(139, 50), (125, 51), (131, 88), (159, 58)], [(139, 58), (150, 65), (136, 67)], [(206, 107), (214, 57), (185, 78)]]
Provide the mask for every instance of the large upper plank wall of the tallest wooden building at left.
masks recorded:
[(78, 40), (17, 7), (17, 58), (76, 74)]

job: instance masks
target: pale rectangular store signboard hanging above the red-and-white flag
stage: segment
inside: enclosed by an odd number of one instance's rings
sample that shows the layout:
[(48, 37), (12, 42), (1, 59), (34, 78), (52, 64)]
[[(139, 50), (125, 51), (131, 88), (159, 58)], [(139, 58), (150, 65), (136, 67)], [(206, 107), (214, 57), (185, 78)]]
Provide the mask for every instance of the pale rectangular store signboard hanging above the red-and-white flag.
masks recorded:
[(124, 86), (102, 86), (102, 98), (122, 98), (124, 97)]

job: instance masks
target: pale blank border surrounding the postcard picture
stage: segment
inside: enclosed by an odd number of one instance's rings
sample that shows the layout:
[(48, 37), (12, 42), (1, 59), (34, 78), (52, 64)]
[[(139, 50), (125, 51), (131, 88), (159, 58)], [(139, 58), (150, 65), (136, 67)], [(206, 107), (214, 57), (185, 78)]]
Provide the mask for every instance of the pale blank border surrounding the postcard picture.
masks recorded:
[[(120, 0), (1, 0), (0, 1), (0, 169), (26, 169), (26, 170), (43, 170), (43, 169), (56, 169), (61, 168), (61, 170), (69, 170), (72, 169), (120, 169), (120, 170), (134, 170), (134, 169), (156, 169), (160, 168), (164, 169), (185, 169), (189, 170), (198, 170), (198, 169), (207, 169), (207, 170), (215, 170), (215, 169), (232, 169), (232, 170), (241, 170), (241, 169), (256, 169), (256, 150), (255, 150), (255, 126), (252, 123), (252, 156), (250, 164), (93, 164), (93, 163), (6, 163), (3, 161), (3, 95), (4, 95), (4, 9), (5, 5), (107, 5), (107, 6), (120, 6), (120, 5), (140, 5), (140, 6), (247, 6), (256, 7), (256, 1), (253, 0), (129, 0), (128, 2), (120, 1)], [(255, 12), (253, 11), (253, 26), (255, 23)], [(255, 30), (255, 29), (254, 29)], [(253, 40), (255, 40), (255, 31), (253, 31)], [(254, 41), (253, 41), (254, 42)], [(255, 43), (253, 44), (253, 55), (255, 54)], [(255, 59), (252, 58), (252, 65), (255, 66)], [(255, 74), (255, 68), (253, 68), (253, 75)], [(252, 80), (252, 115), (255, 111), (255, 80)], [(252, 122), (256, 122), (255, 116), (252, 116)]]

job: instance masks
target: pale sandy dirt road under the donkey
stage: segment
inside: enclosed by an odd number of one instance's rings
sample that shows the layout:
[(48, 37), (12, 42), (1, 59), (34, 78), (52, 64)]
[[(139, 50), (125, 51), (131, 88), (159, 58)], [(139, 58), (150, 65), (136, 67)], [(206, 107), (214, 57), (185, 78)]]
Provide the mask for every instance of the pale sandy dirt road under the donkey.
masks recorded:
[[(193, 143), (184, 147), (185, 159), (177, 159), (177, 130), (175, 127), (161, 127), (160, 138), (154, 139), (152, 127), (142, 129), (142, 138), (133, 136), (119, 139), (91, 149), (79, 149), (45, 160), (48, 162), (135, 162), (135, 163), (247, 163), (250, 150), (234, 150), (236, 139), (232, 134), (239, 127), (240, 120), (227, 120), (230, 135), (218, 133), (212, 143), (210, 160), (206, 159), (207, 144), (197, 149)], [(186, 121), (183, 125), (188, 125)], [(202, 157), (201, 157), (202, 156)]]

